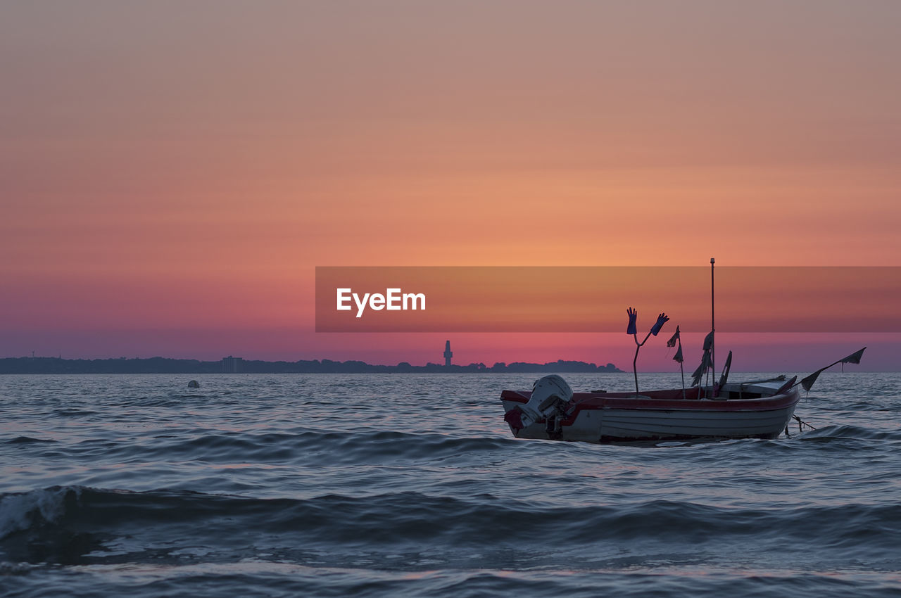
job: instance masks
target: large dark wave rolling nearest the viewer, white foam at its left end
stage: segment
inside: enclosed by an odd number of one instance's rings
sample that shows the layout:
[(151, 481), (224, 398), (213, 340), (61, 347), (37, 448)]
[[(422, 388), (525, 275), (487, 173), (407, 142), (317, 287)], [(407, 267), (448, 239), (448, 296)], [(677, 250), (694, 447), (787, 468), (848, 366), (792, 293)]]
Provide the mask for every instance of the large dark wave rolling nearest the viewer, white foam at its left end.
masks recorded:
[(0, 497), (0, 540), (68, 530), (70, 533), (183, 534), (214, 538), (290, 534), (327, 548), (441, 541), (453, 545), (531, 543), (568, 546), (648, 539), (702, 543), (747, 537), (815, 541), (819, 547), (897, 546), (901, 504), (808, 505), (739, 509), (654, 500), (622, 506), (549, 507), (481, 494), (463, 500), (415, 492), (309, 499), (259, 499), (156, 490), (128, 492), (55, 486)]

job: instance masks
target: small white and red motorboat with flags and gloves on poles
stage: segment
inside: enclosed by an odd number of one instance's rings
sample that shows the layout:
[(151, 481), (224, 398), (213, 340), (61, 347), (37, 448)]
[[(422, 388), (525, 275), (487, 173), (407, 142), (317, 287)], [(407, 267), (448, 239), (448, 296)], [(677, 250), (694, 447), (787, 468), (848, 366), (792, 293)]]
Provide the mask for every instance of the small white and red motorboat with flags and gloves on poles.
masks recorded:
[[(651, 335), (657, 336), (669, 321), (660, 313), (642, 342), (638, 340), (637, 313), (629, 308), (626, 333), (635, 340), (633, 372), (635, 392), (607, 393), (593, 391), (573, 393), (561, 376), (538, 379), (532, 391), (504, 390), (500, 402), (504, 420), (516, 438), (573, 440), (585, 442), (617, 442), (631, 440), (678, 439), (775, 439), (794, 418), (799, 427), (803, 421), (795, 416), (801, 386), (809, 391), (825, 369), (838, 364), (860, 363), (864, 349), (822, 367), (797, 382), (797, 376), (787, 379), (778, 376), (763, 380), (729, 382), (732, 351), (725, 360), (722, 376), (710, 384), (714, 370), (714, 258), (711, 268), (711, 331), (704, 342), (701, 365), (693, 374), (691, 387), (686, 388), (682, 373), (681, 388), (640, 391), (638, 370), (639, 349)], [(682, 342), (679, 329), (667, 342), (678, 350), (674, 359), (682, 370)], [(701, 380), (707, 376), (707, 384)]]

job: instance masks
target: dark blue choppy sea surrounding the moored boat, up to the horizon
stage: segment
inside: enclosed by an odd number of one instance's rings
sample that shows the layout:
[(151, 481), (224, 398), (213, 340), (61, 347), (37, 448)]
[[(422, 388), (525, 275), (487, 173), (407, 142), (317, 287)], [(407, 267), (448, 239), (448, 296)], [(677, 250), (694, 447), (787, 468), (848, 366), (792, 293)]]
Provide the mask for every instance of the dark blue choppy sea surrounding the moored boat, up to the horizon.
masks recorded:
[(0, 593), (901, 595), (901, 375), (656, 446), (512, 438), (534, 377), (0, 376)]

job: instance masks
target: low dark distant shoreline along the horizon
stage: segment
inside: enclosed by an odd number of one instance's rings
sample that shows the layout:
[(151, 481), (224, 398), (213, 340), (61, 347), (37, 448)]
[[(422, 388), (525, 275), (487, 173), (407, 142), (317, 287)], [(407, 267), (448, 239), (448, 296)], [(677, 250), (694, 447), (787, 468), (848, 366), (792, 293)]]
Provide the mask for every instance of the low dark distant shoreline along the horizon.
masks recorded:
[(429, 363), (413, 366), (401, 362), (396, 366), (381, 366), (365, 361), (332, 361), (312, 359), (299, 361), (261, 361), (227, 357), (218, 361), (171, 358), (0, 358), (2, 374), (483, 374), (483, 373), (587, 373), (615, 374), (623, 370), (608, 363), (598, 366), (585, 361), (550, 361), (537, 363), (469, 364), (468, 366), (444, 366)]

